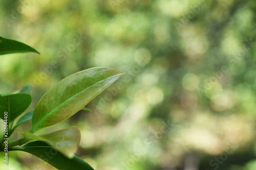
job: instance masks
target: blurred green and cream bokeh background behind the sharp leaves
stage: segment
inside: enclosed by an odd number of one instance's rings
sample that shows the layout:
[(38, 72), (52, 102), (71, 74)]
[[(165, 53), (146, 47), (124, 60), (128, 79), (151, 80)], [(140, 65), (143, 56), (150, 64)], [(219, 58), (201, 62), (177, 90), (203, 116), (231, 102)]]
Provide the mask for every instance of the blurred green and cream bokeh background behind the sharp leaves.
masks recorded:
[[(31, 84), (33, 109), (61, 79), (112, 67), (126, 74), (92, 112), (41, 133), (77, 126), (77, 155), (100, 170), (254, 170), (255, 11), (253, 0), (1, 1), (0, 36), (41, 55), (1, 56), (0, 93)], [(9, 155), (8, 169), (55, 169)]]

